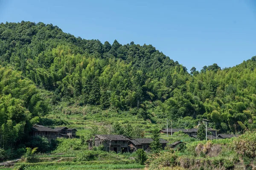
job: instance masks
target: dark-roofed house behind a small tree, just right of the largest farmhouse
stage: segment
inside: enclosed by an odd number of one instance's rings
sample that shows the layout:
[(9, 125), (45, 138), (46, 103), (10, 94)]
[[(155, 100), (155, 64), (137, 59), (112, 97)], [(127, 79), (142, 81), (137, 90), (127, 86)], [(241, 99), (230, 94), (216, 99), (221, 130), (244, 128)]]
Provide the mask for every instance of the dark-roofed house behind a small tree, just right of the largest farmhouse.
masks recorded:
[[(132, 139), (130, 144), (130, 150), (131, 152), (136, 151), (137, 149), (143, 149), (146, 151), (150, 150), (150, 143), (153, 141), (151, 138), (138, 138), (138, 139)], [(160, 143), (162, 144), (162, 148), (166, 147), (166, 144), (168, 141), (164, 139), (160, 139)]]

